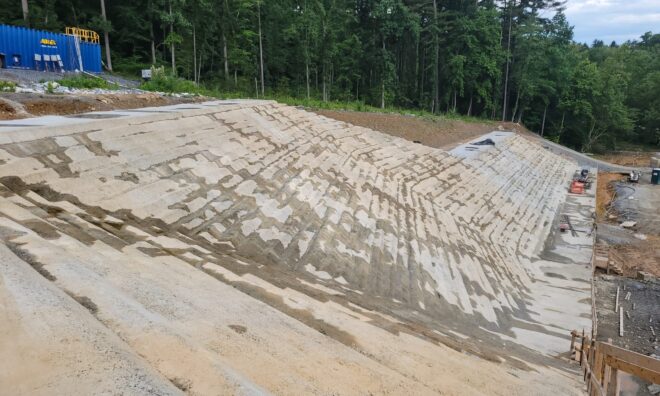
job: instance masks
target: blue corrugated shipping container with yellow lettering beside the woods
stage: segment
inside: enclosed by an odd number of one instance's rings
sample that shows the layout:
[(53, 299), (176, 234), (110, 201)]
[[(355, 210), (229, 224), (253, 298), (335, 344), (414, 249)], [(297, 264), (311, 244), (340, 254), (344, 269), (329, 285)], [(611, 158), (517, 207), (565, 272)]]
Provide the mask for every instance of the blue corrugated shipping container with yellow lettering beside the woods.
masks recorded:
[(0, 25), (0, 67), (43, 71), (101, 72), (101, 46), (75, 36)]

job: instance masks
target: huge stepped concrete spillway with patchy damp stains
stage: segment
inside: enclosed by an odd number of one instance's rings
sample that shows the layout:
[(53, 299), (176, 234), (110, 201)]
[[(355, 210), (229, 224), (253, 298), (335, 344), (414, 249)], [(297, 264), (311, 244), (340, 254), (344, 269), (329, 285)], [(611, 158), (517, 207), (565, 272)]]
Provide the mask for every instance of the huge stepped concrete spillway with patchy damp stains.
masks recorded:
[[(591, 241), (551, 231), (593, 202), (524, 137), (448, 152), (266, 101), (35, 122), (0, 125), (0, 355), (73, 354), (99, 393), (578, 389), (555, 356)], [(71, 389), (19, 362), (0, 384)]]

